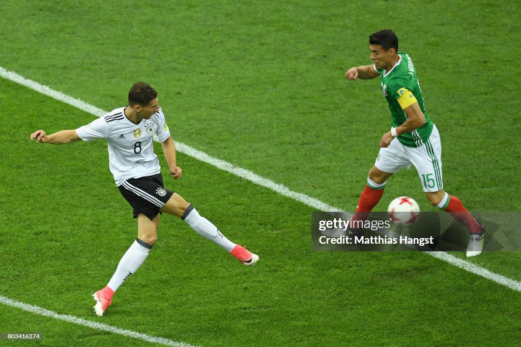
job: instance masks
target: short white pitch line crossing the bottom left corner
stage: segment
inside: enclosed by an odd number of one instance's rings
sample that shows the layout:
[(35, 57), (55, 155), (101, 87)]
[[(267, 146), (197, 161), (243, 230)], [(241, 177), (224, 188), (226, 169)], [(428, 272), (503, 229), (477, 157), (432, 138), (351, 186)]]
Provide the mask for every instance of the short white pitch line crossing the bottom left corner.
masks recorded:
[(78, 318), (78, 317), (70, 316), (70, 315), (62, 315), (62, 314), (56, 313), (54, 311), (49, 311), (48, 309), (45, 309), (45, 308), (42, 308), (39, 306), (33, 306), (33, 305), (29, 305), (29, 304), (19, 302), (19, 301), (13, 300), (13, 299), (9, 299), (2, 295), (0, 295), (0, 303), (11, 306), (11, 307), (20, 308), (20, 309), (23, 309), (23, 311), (35, 313), (35, 314), (38, 314), (41, 316), (51, 317), (51, 318), (59, 319), (59, 320), (65, 320), (68, 323), (74, 323), (74, 324), (83, 325), (85, 327), (89, 327), (92, 329), (108, 331), (108, 332), (120, 334), (123, 336), (131, 337), (131, 338), (142, 340), (142, 341), (158, 343), (158, 344), (162, 344), (165, 346), (173, 346), (173, 347), (197, 347), (196, 345), (192, 345), (192, 344), (188, 344), (188, 343), (184, 343), (184, 342), (172, 341), (172, 340), (165, 339), (162, 337), (147, 335), (147, 334), (144, 334), (141, 332), (116, 328), (116, 327), (113, 327), (113, 326), (110, 326), (107, 324), (103, 324), (103, 323), (98, 323), (98, 322), (92, 321), (92, 320), (86, 320), (86, 319), (82, 319), (82, 318)]

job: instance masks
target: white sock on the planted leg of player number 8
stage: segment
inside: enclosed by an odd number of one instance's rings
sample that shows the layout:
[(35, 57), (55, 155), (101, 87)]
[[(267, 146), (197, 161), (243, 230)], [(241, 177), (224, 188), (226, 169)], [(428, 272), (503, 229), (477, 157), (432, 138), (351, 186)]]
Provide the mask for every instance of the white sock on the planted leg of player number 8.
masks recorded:
[(116, 272), (114, 272), (107, 286), (113, 291), (116, 291), (123, 281), (143, 264), (151, 248), (152, 245), (140, 239), (136, 239), (127, 252), (121, 257)]

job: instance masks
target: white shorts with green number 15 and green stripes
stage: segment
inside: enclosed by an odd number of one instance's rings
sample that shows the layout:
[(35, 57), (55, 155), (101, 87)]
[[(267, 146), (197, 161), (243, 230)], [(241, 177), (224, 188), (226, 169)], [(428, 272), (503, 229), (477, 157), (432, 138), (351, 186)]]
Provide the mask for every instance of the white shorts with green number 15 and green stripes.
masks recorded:
[(421, 147), (407, 147), (394, 139), (387, 148), (380, 148), (375, 166), (384, 172), (395, 173), (414, 165), (424, 192), (443, 189), (441, 171), (441, 141), (436, 125), (429, 140)]

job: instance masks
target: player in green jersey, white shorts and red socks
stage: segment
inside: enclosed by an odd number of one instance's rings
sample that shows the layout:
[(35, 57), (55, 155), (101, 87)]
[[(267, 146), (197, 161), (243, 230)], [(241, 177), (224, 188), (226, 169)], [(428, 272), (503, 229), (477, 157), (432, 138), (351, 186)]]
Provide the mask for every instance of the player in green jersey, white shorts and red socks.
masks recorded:
[(369, 212), (380, 201), (387, 179), (393, 173), (414, 165), (429, 202), (449, 212), (467, 227), (470, 233), (467, 256), (480, 254), (485, 228), (467, 212), (457, 197), (443, 190), (440, 135), (425, 111), (411, 57), (398, 52), (398, 38), (389, 29), (369, 36), (369, 50), (373, 65), (352, 67), (345, 77), (350, 81), (380, 77), (380, 87), (391, 110), (392, 128), (380, 140), (380, 152), (369, 170), (367, 185), (351, 219), (349, 234), (363, 234), (363, 229), (353, 226), (363, 225)]

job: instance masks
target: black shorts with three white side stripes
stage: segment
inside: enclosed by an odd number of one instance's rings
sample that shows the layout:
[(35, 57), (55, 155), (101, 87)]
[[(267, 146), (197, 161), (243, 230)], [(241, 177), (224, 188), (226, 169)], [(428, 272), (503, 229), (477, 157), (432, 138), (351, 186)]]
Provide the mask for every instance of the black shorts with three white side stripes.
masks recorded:
[(152, 220), (173, 195), (172, 191), (163, 187), (163, 176), (160, 173), (128, 179), (118, 188), (134, 208), (134, 218), (142, 213)]

